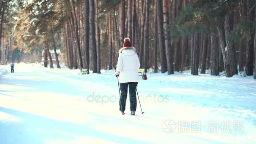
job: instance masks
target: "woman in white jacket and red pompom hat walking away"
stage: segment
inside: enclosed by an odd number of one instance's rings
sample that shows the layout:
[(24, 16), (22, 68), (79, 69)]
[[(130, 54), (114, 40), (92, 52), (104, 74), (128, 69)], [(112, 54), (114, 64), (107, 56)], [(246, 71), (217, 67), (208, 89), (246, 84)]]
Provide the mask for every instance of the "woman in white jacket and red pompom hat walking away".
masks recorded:
[(128, 93), (130, 95), (131, 115), (135, 115), (137, 107), (136, 87), (138, 85), (139, 76), (138, 69), (140, 67), (139, 57), (135, 52), (135, 48), (131, 46), (129, 38), (124, 39), (123, 48), (119, 50), (117, 61), (116, 77), (119, 77), (121, 98), (119, 102), (119, 110), (125, 111), (125, 103)]

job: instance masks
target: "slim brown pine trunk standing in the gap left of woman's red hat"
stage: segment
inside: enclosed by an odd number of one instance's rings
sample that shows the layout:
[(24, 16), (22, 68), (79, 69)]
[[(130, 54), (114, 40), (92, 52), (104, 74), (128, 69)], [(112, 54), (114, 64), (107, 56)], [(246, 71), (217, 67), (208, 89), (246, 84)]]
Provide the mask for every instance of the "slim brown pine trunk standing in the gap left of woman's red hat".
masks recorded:
[(111, 24), (111, 12), (109, 11), (108, 12), (108, 23), (109, 23), (109, 40), (108, 40), (108, 43), (109, 43), (109, 64), (108, 64), (108, 69), (112, 69), (112, 55), (113, 55), (113, 49), (112, 49), (112, 24)]

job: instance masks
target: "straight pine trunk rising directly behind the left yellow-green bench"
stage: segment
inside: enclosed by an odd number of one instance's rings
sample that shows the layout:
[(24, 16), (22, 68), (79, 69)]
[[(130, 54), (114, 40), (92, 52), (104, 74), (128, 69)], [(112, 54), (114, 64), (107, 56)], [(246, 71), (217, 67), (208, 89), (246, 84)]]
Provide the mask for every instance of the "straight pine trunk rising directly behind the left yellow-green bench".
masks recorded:
[(85, 64), (84, 67), (86, 69), (90, 68), (90, 45), (89, 45), (89, 37), (90, 37), (90, 26), (89, 26), (89, 1), (84, 0), (84, 59)]

